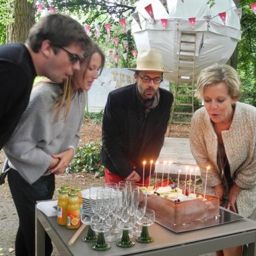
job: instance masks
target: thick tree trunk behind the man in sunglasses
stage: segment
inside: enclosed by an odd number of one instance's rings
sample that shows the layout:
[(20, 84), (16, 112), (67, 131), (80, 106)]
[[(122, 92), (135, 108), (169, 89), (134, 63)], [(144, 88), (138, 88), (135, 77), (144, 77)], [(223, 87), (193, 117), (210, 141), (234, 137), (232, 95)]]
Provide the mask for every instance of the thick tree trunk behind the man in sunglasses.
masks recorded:
[(12, 3), (13, 22), (6, 28), (6, 43), (25, 42), (34, 24), (34, 6), (28, 0), (15, 0)]

